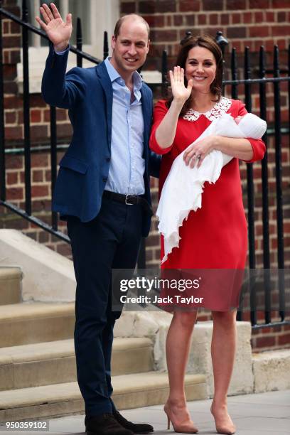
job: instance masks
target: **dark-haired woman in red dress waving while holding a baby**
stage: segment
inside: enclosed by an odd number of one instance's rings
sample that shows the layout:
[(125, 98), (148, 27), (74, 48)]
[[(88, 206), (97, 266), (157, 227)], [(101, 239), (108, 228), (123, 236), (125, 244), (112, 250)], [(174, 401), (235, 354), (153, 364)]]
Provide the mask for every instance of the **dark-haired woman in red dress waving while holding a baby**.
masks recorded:
[[(213, 119), (227, 112), (232, 117), (247, 113), (245, 104), (221, 96), (222, 53), (209, 36), (190, 37), (181, 47), (173, 72), (170, 71), (172, 98), (160, 101), (154, 109), (151, 149), (163, 154), (160, 186), (171, 165), (184, 149), (186, 165), (202, 165), (213, 149), (234, 156), (215, 184), (205, 183), (203, 206), (190, 212), (180, 228), (180, 245), (163, 263), (165, 269), (245, 269), (247, 222), (242, 205), (239, 159), (262, 159), (265, 146), (261, 139), (232, 139), (208, 136), (189, 146)], [(189, 146), (189, 147), (188, 147)], [(161, 238), (161, 258), (163, 241)], [(236, 349), (236, 312), (212, 311), (212, 359), (215, 392), (211, 412), (220, 434), (234, 434), (235, 425), (227, 413)], [(186, 407), (184, 376), (190, 337), (198, 311), (174, 311), (166, 340), (170, 394), (164, 411), (176, 432), (196, 433)]]

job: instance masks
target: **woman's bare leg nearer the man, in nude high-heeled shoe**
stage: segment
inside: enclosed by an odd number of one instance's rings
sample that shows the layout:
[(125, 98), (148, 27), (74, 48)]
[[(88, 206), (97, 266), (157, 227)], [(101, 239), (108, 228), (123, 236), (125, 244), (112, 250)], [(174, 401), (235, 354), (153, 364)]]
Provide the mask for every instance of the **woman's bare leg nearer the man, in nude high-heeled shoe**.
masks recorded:
[(186, 408), (184, 377), (190, 350), (190, 339), (198, 311), (173, 314), (166, 339), (166, 360), (169, 378), (169, 397), (165, 405), (166, 414), (170, 414), (173, 426), (178, 428), (186, 424), (195, 429)]

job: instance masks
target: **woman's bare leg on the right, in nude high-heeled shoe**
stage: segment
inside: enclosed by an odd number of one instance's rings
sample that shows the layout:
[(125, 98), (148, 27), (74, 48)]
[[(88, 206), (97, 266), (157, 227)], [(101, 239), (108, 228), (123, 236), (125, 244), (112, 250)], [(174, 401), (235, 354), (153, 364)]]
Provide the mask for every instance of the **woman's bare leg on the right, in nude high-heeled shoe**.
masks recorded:
[[(211, 410), (221, 433), (235, 432), (235, 425), (227, 414), (227, 390), (235, 363), (237, 345), (237, 311), (213, 311), (211, 354), (215, 392)], [(222, 431), (223, 430), (223, 431)]]

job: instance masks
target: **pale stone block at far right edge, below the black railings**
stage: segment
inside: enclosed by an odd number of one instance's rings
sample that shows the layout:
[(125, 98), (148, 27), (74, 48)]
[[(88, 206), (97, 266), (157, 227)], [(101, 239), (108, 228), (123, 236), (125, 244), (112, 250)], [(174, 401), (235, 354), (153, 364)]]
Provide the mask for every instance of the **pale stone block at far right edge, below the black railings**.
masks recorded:
[(254, 392), (290, 389), (290, 349), (252, 355)]

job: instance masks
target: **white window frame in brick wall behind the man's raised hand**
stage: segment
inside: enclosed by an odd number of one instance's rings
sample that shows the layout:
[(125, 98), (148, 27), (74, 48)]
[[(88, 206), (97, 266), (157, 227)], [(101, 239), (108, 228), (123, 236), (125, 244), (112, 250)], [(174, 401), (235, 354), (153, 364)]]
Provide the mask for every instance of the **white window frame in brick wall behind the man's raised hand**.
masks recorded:
[[(68, 13), (68, 0), (60, 0), (60, 13), (65, 17)], [(33, 15), (39, 16), (39, 1), (33, 0)], [(109, 49), (111, 46), (111, 38), (114, 33), (114, 25), (120, 16), (119, 0), (90, 0), (90, 33), (92, 44), (82, 45), (82, 50), (95, 58), (102, 60), (103, 58), (103, 43), (104, 31), (108, 32)], [(75, 24), (76, 17), (73, 17)], [(36, 24), (36, 23), (33, 23)], [(85, 26), (86, 23), (82, 23)], [(29, 90), (30, 93), (41, 92), (41, 79), (43, 75), (45, 59), (48, 56), (48, 47), (41, 46), (41, 36), (33, 33), (33, 46), (29, 47)], [(75, 67), (77, 63), (76, 55), (70, 53), (68, 57), (68, 70)], [(91, 67), (93, 64), (88, 60), (83, 60), (84, 68)], [(17, 65), (18, 91), (23, 92), (23, 64), (22, 52), (21, 63)]]

